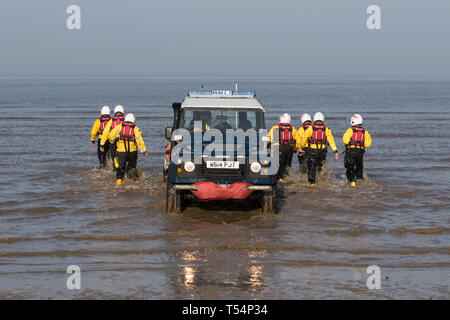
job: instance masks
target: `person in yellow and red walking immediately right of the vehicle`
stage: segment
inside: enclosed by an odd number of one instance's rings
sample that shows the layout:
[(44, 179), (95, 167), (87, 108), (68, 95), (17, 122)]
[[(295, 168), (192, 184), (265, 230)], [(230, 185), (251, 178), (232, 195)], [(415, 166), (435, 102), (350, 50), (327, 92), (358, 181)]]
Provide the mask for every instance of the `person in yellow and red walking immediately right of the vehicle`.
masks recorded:
[[(283, 113), (280, 117), (279, 124), (273, 126), (267, 136), (271, 143), (279, 145), (279, 169), (278, 182), (283, 182), (287, 168), (291, 167), (292, 155), (296, 147), (297, 130), (290, 124), (291, 116)], [(276, 139), (278, 137), (278, 139)]]

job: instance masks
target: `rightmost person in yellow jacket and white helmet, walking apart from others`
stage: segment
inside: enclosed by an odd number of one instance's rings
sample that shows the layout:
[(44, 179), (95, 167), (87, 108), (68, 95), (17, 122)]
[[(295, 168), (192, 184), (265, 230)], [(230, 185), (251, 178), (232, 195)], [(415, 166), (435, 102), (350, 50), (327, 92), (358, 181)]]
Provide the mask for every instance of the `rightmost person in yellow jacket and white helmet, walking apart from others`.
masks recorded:
[(356, 179), (363, 179), (363, 157), (365, 149), (372, 144), (372, 137), (363, 128), (363, 119), (359, 114), (353, 115), (350, 123), (352, 126), (344, 133), (342, 140), (345, 144), (344, 166), (347, 169), (347, 179), (354, 187)]

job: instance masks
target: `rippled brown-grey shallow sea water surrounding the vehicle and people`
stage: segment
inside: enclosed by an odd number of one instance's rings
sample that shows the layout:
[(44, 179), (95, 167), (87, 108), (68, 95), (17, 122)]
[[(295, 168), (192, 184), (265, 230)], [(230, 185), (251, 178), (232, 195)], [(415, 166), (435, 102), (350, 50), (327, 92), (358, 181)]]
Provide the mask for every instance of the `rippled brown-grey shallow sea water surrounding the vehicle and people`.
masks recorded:
[[(0, 298), (448, 299), (450, 82), (243, 79), (267, 126), (322, 111), (340, 150), (360, 113), (374, 140), (365, 181), (350, 189), (329, 153), (311, 189), (294, 157), (278, 215), (242, 202), (165, 214), (171, 103), (234, 80), (1, 79)], [(96, 169), (89, 134), (104, 104), (137, 116), (150, 151), (137, 182)], [(66, 288), (69, 265), (81, 290)]]

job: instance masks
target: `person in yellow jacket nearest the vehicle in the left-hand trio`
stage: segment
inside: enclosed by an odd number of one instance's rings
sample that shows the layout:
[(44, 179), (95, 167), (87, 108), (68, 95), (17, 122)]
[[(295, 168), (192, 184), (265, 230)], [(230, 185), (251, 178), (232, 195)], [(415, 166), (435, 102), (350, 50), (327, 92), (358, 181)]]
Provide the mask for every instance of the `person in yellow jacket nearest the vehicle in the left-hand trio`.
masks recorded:
[(122, 124), (117, 125), (109, 134), (109, 139), (114, 143), (117, 141), (116, 157), (118, 168), (116, 170), (116, 184), (122, 184), (125, 173), (132, 178), (137, 178), (135, 168), (137, 165), (137, 149), (141, 150), (144, 156), (148, 156), (147, 148), (142, 139), (141, 130), (135, 125), (136, 117), (129, 113)]

